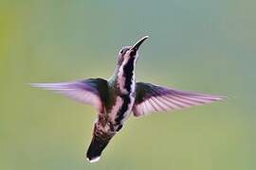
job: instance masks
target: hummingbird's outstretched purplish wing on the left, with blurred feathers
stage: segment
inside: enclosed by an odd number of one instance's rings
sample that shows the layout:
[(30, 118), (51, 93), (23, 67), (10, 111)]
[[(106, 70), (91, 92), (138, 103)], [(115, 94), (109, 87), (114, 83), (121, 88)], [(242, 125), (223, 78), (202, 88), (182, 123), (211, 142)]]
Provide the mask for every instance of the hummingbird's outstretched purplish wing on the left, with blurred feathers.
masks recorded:
[(81, 81), (62, 83), (32, 83), (30, 85), (32, 87), (62, 93), (76, 101), (92, 105), (98, 111), (101, 111), (102, 104), (105, 103), (108, 93), (107, 81), (101, 78), (89, 78)]

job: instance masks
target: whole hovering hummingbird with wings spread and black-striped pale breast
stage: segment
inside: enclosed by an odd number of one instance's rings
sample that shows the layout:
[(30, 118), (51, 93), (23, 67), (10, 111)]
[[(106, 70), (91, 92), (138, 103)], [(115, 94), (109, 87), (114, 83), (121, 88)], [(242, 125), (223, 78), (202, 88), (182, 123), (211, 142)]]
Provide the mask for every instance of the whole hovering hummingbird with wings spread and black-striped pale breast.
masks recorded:
[(145, 36), (134, 45), (124, 46), (119, 50), (116, 69), (108, 80), (87, 78), (61, 83), (31, 84), (32, 87), (62, 93), (97, 110), (92, 140), (86, 153), (90, 162), (100, 160), (103, 149), (131, 115), (140, 117), (156, 111), (182, 110), (225, 98), (137, 82), (135, 71), (138, 49), (147, 39), (148, 36)]

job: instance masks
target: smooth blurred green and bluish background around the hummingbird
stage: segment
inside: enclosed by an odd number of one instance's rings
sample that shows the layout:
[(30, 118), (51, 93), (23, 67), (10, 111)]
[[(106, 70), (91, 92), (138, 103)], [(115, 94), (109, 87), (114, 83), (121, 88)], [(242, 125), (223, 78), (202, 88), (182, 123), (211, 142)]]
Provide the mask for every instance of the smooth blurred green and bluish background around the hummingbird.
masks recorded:
[[(254, 0), (0, 1), (0, 169), (256, 168)], [(190, 110), (131, 117), (101, 161), (84, 155), (92, 107), (28, 82), (111, 76), (144, 35), (137, 80), (228, 95)]]

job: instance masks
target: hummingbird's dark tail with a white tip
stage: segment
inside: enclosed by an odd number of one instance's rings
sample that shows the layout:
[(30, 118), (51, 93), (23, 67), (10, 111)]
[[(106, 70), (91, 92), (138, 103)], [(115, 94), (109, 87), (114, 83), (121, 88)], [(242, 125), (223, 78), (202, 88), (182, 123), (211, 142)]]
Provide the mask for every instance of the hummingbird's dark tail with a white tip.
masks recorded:
[(86, 153), (87, 160), (90, 162), (99, 161), (101, 158), (101, 152), (109, 143), (111, 138), (112, 137), (109, 136), (97, 136), (94, 134)]

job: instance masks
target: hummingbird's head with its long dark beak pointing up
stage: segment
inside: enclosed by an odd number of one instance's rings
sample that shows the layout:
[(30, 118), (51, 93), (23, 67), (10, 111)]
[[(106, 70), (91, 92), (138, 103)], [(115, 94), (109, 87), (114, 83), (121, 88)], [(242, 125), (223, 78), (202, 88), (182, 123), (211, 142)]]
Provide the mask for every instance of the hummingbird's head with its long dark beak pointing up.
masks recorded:
[(124, 65), (129, 61), (135, 63), (138, 57), (138, 48), (146, 39), (148, 39), (148, 36), (143, 37), (142, 39), (137, 41), (133, 46), (122, 47), (119, 51), (118, 65)]

